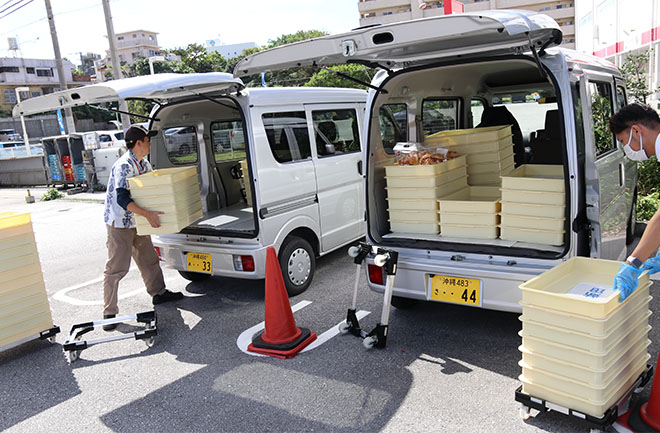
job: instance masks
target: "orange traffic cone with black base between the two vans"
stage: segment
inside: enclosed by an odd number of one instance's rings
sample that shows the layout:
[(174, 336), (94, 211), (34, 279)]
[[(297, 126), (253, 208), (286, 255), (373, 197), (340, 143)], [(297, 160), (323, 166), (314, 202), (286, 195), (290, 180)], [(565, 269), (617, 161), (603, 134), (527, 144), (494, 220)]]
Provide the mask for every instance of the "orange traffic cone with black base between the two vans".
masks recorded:
[(252, 339), (248, 350), (276, 358), (293, 358), (316, 340), (316, 334), (307, 328), (296, 326), (280, 264), (273, 247), (268, 247), (266, 250), (265, 298), (266, 329)]

